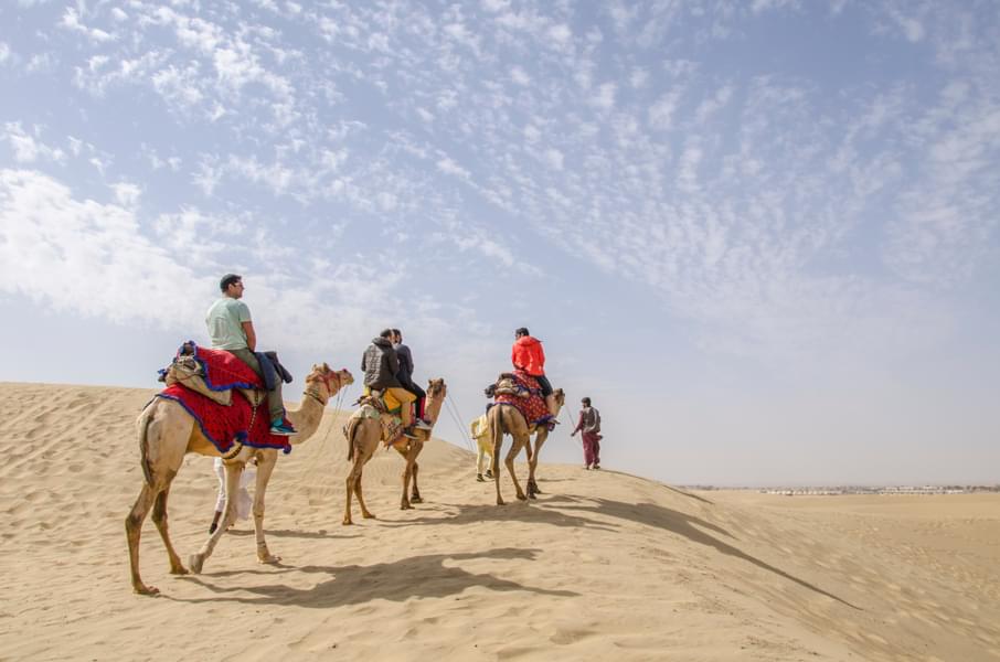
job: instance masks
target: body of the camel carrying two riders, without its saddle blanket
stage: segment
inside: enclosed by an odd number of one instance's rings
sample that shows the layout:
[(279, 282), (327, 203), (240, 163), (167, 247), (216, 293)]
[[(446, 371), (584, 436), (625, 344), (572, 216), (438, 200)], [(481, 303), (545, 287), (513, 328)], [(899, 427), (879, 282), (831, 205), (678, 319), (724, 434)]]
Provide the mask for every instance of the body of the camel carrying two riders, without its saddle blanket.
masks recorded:
[[(427, 385), (427, 402), (424, 407), (424, 418), (430, 424), (432, 429), (437, 423), (442, 405), (445, 403), (445, 396), (448, 394), (448, 387), (440, 377), (429, 380)], [(424, 449), (424, 442), (430, 439), (432, 430), (416, 429), (414, 434), (416, 439), (407, 437), (400, 438), (393, 448), (406, 460), (406, 467), (403, 469), (403, 496), (400, 501), (400, 510), (409, 510), (413, 503), (423, 503), (421, 490), (417, 487), (417, 474), (419, 466), (417, 456)], [(358, 498), (358, 505), (361, 506), (361, 516), (365, 520), (374, 519), (368, 508), (364, 505), (364, 496), (361, 492), (361, 474), (364, 465), (372, 459), (375, 450), (382, 444), (382, 423), (379, 420), (377, 413), (372, 405), (362, 405), (361, 409), (348, 421), (344, 427), (344, 437), (348, 440), (348, 461), (351, 461), (351, 470), (348, 472), (345, 480), (347, 501), (343, 509), (343, 525), (349, 526), (354, 522), (351, 520), (351, 493)], [(413, 479), (413, 494), (407, 498), (409, 481)]]

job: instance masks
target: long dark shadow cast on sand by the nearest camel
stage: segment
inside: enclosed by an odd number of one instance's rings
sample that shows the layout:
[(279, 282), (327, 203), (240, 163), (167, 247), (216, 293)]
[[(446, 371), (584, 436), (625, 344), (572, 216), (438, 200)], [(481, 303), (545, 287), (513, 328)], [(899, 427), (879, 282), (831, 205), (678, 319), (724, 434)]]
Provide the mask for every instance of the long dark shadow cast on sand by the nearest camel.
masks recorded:
[[(315, 609), (329, 609), (344, 605), (358, 605), (371, 600), (404, 601), (409, 598), (442, 598), (458, 595), (474, 586), (490, 590), (523, 590), (536, 595), (576, 597), (568, 590), (547, 590), (501, 579), (490, 574), (477, 575), (459, 567), (446, 566), (445, 562), (466, 559), (519, 559), (532, 562), (541, 549), (506, 547), (467, 554), (426, 554), (401, 558), (392, 563), (370, 566), (301, 566), (298, 573), (327, 575), (331, 577), (312, 588), (291, 588), (281, 584), (252, 587), (221, 587), (210, 581), (212, 575), (187, 575), (179, 579), (199, 584), (216, 597), (180, 599), (179, 602), (231, 601), (247, 605), (297, 605)], [(231, 595), (232, 594), (232, 595)], [(247, 597), (245, 594), (254, 594)]]

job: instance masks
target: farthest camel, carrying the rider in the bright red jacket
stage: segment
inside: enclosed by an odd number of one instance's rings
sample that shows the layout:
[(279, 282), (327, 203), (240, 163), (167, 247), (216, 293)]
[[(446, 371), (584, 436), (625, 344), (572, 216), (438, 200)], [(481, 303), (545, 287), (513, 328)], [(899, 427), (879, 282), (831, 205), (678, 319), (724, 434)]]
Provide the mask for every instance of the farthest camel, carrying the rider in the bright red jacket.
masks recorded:
[[(566, 404), (566, 394), (562, 388), (556, 388), (552, 395), (555, 401), (554, 416), (558, 416), (560, 409)], [(536, 499), (535, 494), (541, 494), (542, 492), (539, 490), (539, 485), (535, 482), (534, 471), (539, 466), (539, 452), (542, 450), (542, 445), (545, 444), (545, 439), (549, 438), (549, 428), (544, 425), (529, 426), (521, 412), (511, 405), (494, 405), (490, 407), (490, 410), (487, 413), (487, 419), (490, 424), (490, 439), (492, 440), (493, 446), (490, 452), (490, 469), (493, 472), (493, 481), (497, 483), (497, 505), (503, 505), (503, 498), (500, 496), (499, 466), (500, 447), (503, 445), (503, 435), (513, 437), (513, 442), (510, 451), (503, 459), (503, 463), (507, 465), (507, 471), (510, 473), (511, 480), (514, 481), (514, 489), (518, 490), (518, 499), (521, 501), (526, 501), (529, 496), (531, 499)], [(534, 448), (532, 448), (531, 445), (532, 435), (534, 435)], [(518, 457), (518, 453), (521, 452), (522, 448), (528, 452), (526, 496), (521, 490), (521, 483), (518, 482), (518, 477), (514, 474), (514, 458)]]

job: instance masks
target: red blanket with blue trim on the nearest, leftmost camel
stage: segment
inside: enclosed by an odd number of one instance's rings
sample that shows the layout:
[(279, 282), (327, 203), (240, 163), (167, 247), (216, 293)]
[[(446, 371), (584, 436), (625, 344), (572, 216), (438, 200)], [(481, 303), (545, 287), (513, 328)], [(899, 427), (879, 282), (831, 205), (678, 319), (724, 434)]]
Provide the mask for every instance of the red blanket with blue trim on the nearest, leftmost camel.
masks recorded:
[[(194, 356), (202, 364), (205, 382), (213, 391), (263, 388), (257, 373), (224, 350), (194, 346)], [(228, 407), (180, 384), (168, 386), (156, 397), (172, 399), (184, 407), (219, 452), (225, 453), (236, 441), (256, 448), (280, 448), (285, 452), (291, 452), (288, 437), (270, 434), (266, 399), (254, 414), (249, 401), (238, 391), (233, 394), (233, 403)]]

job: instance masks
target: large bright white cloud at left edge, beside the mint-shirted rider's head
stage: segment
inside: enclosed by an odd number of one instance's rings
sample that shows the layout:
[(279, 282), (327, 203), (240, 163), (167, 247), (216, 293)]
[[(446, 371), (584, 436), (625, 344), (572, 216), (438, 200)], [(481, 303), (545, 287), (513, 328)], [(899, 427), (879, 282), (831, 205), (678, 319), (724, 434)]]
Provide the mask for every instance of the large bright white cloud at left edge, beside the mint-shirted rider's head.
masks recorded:
[(0, 171), (0, 288), (113, 321), (193, 323), (201, 284), (141, 235), (128, 210), (77, 201), (39, 172)]

